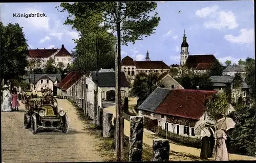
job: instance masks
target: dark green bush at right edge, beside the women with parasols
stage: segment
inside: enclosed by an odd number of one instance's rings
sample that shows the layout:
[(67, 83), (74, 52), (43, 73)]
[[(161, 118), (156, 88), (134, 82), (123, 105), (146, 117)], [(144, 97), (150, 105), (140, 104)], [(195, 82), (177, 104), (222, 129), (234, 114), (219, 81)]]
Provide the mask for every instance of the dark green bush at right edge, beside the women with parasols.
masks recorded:
[(230, 117), (236, 122), (236, 126), (230, 134), (230, 149), (239, 154), (254, 156), (256, 152), (255, 100), (250, 106), (238, 105), (236, 112), (232, 112)]

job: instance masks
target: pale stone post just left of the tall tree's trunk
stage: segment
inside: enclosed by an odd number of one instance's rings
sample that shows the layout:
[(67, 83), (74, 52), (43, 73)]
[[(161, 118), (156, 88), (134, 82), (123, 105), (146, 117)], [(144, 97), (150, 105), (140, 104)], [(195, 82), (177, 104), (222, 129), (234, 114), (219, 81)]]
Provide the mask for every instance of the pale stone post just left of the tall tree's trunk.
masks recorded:
[(111, 137), (112, 118), (112, 113), (103, 111), (103, 138)]

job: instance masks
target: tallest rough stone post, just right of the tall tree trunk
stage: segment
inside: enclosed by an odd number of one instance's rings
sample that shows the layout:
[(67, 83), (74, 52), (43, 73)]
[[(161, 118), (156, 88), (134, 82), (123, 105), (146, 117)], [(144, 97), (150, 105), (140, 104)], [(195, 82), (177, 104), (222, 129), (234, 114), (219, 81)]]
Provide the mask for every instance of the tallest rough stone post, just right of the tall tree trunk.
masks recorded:
[(130, 152), (129, 161), (142, 160), (143, 117), (130, 117)]

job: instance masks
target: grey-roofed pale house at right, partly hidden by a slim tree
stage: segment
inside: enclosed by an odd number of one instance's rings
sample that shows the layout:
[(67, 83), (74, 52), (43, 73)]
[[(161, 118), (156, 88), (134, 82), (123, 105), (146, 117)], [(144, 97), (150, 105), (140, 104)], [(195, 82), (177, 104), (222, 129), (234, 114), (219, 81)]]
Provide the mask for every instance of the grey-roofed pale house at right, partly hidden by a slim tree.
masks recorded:
[(214, 90), (224, 91), (226, 88), (229, 88), (231, 91), (231, 100), (233, 102), (236, 102), (240, 96), (246, 101), (249, 94), (249, 86), (242, 81), (241, 88), (236, 90), (233, 87), (233, 79), (234, 76), (210, 76)]

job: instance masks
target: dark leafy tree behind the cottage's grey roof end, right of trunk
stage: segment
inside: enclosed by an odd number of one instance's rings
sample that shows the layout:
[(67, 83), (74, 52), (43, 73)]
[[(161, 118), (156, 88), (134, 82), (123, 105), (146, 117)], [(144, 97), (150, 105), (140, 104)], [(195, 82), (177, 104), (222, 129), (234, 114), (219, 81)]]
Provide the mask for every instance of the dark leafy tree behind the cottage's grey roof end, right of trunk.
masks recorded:
[(132, 92), (143, 102), (157, 88), (157, 82), (158, 73), (140, 72), (135, 76)]

